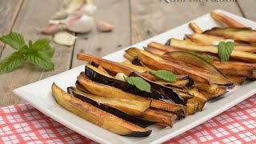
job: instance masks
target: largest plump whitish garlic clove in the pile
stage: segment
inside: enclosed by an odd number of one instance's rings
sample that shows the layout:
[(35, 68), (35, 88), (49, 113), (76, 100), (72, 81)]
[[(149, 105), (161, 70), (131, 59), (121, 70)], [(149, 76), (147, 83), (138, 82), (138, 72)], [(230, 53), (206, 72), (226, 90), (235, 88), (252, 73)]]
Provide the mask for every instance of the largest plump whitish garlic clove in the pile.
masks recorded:
[(66, 28), (76, 33), (87, 33), (94, 26), (94, 18), (88, 15), (82, 15), (74, 18), (70, 18), (66, 22)]

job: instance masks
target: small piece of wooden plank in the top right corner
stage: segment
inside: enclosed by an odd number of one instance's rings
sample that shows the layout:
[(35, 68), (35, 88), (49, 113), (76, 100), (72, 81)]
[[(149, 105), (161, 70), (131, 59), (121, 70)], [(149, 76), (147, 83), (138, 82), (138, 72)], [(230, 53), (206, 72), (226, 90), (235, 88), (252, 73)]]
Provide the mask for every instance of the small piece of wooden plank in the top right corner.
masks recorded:
[(245, 14), (245, 17), (256, 21), (256, 14), (255, 14), (255, 10), (256, 10), (256, 4), (255, 4), (255, 0), (241, 0), (238, 2), (238, 4), (240, 5), (243, 14)]

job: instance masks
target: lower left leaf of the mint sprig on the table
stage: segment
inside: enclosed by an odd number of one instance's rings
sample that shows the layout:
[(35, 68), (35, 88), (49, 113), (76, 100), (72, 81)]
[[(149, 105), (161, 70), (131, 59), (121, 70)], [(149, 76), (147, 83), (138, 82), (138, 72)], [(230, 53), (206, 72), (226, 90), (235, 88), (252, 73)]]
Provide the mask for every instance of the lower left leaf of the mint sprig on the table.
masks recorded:
[(26, 58), (24, 54), (20, 51), (16, 51), (0, 62), (0, 74), (8, 73), (18, 68), (18, 66), (22, 66), (22, 64), (25, 62)]

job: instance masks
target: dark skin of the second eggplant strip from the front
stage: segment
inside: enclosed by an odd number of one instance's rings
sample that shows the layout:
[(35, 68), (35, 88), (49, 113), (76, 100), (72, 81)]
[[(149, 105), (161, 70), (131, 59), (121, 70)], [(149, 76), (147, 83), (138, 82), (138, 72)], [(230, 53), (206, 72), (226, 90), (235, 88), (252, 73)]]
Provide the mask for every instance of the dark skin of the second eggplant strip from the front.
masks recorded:
[(156, 122), (150, 122), (150, 121), (147, 121), (144, 118), (140, 118), (138, 116), (126, 114), (126, 113), (122, 112), (121, 110), (115, 109), (114, 107), (106, 106), (102, 103), (95, 102), (94, 100), (92, 100), (90, 98), (86, 98), (85, 96), (76, 93), (75, 90), (72, 89), (72, 87), (68, 87), (67, 92), (69, 94), (73, 95), (75, 98), (78, 98), (78, 99), (82, 100), (83, 102), (90, 103), (90, 105), (95, 106), (98, 109), (104, 110), (104, 111), (106, 111), (110, 114), (114, 114), (118, 118), (122, 118), (122, 119), (124, 119), (128, 122), (134, 123), (134, 125), (141, 126), (141, 127), (145, 128), (147, 126), (151, 126), (151, 125), (156, 124)]

